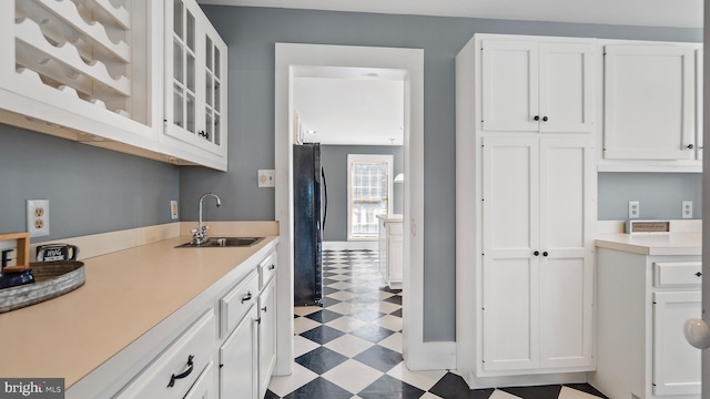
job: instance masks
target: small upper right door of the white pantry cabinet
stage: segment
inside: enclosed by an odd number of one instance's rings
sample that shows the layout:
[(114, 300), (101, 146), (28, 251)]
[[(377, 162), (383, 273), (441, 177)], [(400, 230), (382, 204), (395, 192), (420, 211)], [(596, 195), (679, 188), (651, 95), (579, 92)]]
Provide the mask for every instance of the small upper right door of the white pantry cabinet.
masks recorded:
[(594, 131), (595, 51), (591, 43), (540, 43), (540, 132)]

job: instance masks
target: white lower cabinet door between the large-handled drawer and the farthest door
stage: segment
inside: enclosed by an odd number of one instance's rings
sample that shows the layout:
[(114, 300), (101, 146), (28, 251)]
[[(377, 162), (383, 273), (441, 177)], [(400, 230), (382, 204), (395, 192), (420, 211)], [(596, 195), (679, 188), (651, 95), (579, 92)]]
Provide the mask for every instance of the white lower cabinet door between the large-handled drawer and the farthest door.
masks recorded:
[(255, 399), (258, 393), (257, 315), (254, 306), (220, 348), (220, 397)]

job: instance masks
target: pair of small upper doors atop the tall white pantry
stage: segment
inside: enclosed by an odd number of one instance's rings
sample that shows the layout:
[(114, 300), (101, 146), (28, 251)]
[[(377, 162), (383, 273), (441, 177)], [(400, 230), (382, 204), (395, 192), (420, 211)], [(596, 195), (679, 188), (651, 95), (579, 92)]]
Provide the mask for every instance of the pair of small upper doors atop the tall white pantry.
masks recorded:
[(594, 130), (594, 41), (481, 41), (483, 130)]

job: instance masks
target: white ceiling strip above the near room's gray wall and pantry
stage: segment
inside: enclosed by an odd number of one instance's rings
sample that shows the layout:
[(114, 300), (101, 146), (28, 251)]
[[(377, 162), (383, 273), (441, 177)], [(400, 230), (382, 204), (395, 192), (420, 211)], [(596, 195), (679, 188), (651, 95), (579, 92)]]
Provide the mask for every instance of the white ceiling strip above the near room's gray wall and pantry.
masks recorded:
[(702, 0), (197, 0), (291, 8), (526, 21), (702, 28)]

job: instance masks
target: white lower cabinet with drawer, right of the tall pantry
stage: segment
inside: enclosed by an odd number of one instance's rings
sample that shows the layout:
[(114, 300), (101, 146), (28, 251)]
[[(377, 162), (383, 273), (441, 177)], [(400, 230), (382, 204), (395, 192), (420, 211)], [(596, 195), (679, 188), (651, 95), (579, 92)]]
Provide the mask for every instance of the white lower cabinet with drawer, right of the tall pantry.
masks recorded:
[(700, 256), (598, 248), (597, 371), (610, 398), (699, 399), (701, 350), (683, 324), (701, 317)]

